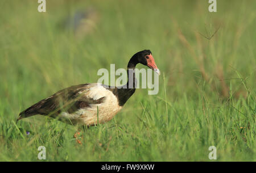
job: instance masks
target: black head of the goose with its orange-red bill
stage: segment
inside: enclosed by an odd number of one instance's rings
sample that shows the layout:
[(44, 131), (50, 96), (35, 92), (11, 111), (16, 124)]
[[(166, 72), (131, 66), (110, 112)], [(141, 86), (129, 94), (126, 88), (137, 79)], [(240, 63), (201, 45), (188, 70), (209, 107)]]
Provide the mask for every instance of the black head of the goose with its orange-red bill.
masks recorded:
[[(150, 50), (142, 50), (140, 52), (135, 53), (134, 56), (131, 57), (129, 64), (130, 63), (133, 63), (134, 65), (141, 63), (143, 65), (150, 67), (156, 73), (160, 74), (158, 66), (156, 66), (155, 60)], [(128, 64), (128, 68), (129, 68), (129, 64)]]

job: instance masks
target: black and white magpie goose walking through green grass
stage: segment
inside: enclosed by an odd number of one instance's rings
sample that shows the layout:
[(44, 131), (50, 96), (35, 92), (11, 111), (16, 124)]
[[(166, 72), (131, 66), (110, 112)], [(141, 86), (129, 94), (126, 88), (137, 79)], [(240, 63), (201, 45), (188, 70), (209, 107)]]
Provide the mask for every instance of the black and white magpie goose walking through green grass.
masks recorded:
[[(19, 113), (18, 120), (43, 115), (65, 123), (94, 126), (110, 121), (124, 106), (136, 90), (135, 73), (137, 64), (150, 67), (158, 75), (160, 71), (150, 50), (135, 53), (127, 65), (128, 81), (121, 87), (110, 87), (101, 83), (86, 83), (64, 88), (40, 100)], [(132, 80), (132, 86), (129, 81)]]

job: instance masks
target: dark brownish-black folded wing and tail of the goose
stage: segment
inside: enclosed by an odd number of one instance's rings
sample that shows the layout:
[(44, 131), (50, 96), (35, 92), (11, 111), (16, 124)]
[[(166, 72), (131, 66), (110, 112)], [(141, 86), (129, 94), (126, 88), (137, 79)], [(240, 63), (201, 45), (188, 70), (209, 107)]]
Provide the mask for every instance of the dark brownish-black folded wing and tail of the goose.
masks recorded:
[(60, 90), (52, 96), (49, 96), (49, 98), (43, 99), (23, 112), (20, 112), (18, 120), (38, 114), (55, 117), (63, 111), (72, 113), (79, 108), (90, 107), (90, 104), (100, 104), (104, 101), (105, 97), (93, 100), (83, 94), (88, 88), (95, 85), (96, 84), (82, 84)]

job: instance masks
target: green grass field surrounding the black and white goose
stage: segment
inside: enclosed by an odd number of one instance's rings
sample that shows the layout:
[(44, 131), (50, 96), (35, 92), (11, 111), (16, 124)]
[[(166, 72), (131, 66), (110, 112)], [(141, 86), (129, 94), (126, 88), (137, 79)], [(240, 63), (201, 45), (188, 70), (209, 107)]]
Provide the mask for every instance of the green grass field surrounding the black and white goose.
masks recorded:
[[(256, 1), (0, 2), (0, 161), (256, 161)], [(89, 11), (84, 28), (67, 24)], [(69, 26), (69, 27), (68, 27)], [(95, 83), (150, 49), (159, 93), (138, 89), (115, 118), (81, 131), (18, 113)], [(144, 67), (138, 65), (138, 68)], [(29, 135), (26, 132), (30, 132)], [(217, 160), (210, 160), (216, 146)], [(44, 161), (44, 160), (42, 160)]]

